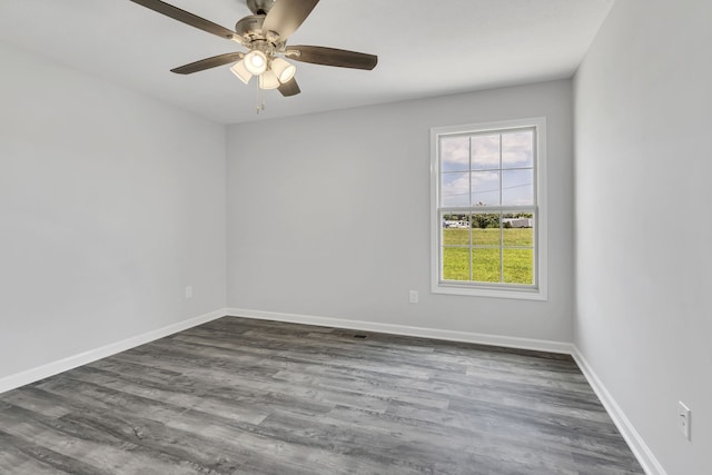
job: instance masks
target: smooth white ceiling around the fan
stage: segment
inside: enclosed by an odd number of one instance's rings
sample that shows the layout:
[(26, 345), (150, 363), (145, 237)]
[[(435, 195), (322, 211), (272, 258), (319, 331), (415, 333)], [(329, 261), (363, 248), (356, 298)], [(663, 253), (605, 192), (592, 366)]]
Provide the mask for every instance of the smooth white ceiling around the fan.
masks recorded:
[[(279, 1), (279, 0), (278, 0)], [(245, 0), (168, 0), (226, 28)], [(171, 68), (239, 51), (129, 0), (0, 0), (0, 40), (222, 123), (442, 96), (573, 75), (613, 0), (322, 0), (289, 39), (378, 56), (373, 71), (297, 63), (301, 93), (257, 90), (228, 66)], [(51, 80), (51, 78), (48, 78)]]

